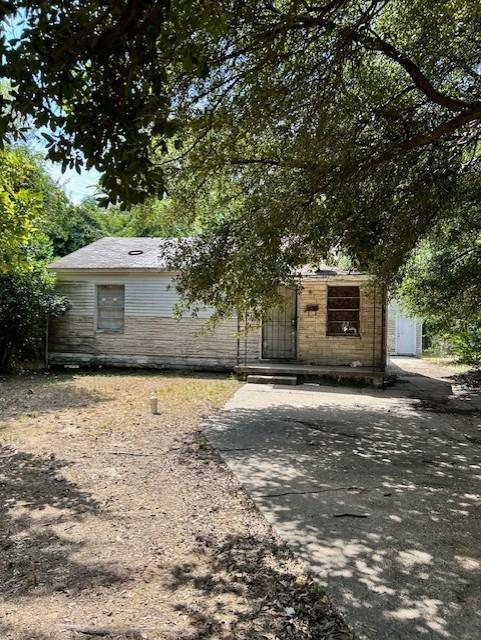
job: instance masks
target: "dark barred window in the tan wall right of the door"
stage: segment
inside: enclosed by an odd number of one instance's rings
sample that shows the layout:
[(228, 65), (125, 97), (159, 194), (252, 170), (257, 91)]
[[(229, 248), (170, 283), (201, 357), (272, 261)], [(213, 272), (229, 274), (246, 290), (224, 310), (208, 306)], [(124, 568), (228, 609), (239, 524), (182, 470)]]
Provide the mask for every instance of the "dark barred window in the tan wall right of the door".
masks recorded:
[(327, 288), (327, 335), (358, 336), (359, 287)]

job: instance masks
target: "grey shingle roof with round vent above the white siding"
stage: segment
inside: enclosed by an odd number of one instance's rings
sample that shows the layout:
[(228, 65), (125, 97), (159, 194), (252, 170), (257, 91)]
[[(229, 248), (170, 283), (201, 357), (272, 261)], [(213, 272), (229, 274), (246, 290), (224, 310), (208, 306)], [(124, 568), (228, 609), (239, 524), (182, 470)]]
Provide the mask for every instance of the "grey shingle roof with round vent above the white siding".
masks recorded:
[(167, 238), (100, 238), (49, 267), (61, 269), (165, 269), (161, 249), (172, 239)]

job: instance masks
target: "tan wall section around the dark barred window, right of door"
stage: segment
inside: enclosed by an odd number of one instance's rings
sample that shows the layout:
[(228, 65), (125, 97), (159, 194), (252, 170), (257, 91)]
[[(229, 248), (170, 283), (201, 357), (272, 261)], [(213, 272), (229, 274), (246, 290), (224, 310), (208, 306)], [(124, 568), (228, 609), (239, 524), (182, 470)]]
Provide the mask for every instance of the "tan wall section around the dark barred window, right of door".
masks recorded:
[[(355, 285), (360, 287), (360, 336), (328, 336), (327, 287), (329, 285)], [(318, 305), (317, 311), (307, 306)], [(353, 361), (362, 366), (384, 366), (383, 299), (374, 296), (373, 285), (368, 280), (351, 277), (343, 280), (308, 280), (298, 298), (297, 359), (306, 364), (349, 365)]]

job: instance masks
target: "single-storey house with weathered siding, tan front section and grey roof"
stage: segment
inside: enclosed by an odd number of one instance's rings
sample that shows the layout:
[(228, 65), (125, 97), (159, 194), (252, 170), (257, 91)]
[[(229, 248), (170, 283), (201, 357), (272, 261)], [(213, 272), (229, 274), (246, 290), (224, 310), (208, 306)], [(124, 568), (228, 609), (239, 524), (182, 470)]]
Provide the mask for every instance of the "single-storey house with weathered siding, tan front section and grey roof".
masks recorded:
[(52, 364), (382, 381), (385, 304), (368, 275), (305, 270), (297, 289), (283, 290), (285, 304), (261, 326), (232, 316), (206, 328), (208, 309), (197, 317), (173, 318), (176, 274), (160, 257), (164, 243), (162, 238), (102, 238), (50, 265), (71, 304), (50, 325)]

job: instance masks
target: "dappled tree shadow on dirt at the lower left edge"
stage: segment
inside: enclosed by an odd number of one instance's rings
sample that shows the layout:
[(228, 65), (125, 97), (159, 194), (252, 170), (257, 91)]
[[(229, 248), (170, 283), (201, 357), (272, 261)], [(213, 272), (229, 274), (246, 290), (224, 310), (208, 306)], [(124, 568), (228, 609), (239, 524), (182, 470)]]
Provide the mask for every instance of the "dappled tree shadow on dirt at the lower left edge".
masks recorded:
[(62, 475), (62, 460), (0, 446), (0, 593), (36, 597), (125, 580), (108, 566), (75, 560), (84, 543), (70, 530), (98, 503)]

